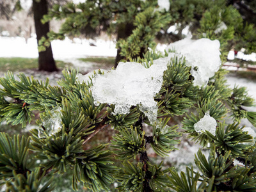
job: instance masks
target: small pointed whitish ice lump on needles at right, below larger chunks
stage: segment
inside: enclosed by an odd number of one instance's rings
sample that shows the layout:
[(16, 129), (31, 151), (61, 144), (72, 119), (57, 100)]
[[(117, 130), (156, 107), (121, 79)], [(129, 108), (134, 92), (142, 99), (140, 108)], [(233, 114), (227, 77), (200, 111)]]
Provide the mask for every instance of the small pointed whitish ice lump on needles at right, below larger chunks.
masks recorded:
[(194, 124), (194, 129), (196, 132), (203, 133), (205, 131), (211, 132), (215, 136), (217, 122), (214, 118), (210, 116), (210, 111), (206, 111), (203, 118), (201, 118), (196, 124)]

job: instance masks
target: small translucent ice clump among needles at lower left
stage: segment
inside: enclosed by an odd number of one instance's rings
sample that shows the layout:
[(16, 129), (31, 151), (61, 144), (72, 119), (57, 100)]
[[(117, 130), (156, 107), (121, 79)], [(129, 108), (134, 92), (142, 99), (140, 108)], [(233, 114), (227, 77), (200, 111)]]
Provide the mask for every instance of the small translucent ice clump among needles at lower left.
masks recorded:
[[(59, 106), (56, 106), (51, 109), (50, 113), (51, 115), (48, 115), (47, 118), (42, 119), (42, 125), (51, 136), (52, 134), (61, 131), (61, 108)], [(40, 135), (38, 136), (41, 137), (41, 133), (42, 132), (39, 131)]]

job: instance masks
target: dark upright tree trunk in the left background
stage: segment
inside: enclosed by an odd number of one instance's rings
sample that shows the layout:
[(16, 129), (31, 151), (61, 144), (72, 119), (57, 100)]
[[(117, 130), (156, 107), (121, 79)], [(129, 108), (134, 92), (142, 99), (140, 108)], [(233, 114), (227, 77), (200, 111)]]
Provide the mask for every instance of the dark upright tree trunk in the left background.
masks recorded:
[[(39, 2), (33, 0), (33, 13), (35, 20), (37, 44), (43, 36), (47, 37), (47, 33), (49, 32), (49, 22), (45, 24), (42, 24), (41, 22), (43, 15), (47, 14), (47, 12), (47, 0), (40, 0)], [(45, 70), (48, 72), (58, 71), (58, 68), (56, 67), (55, 61), (53, 59), (51, 44), (49, 47), (46, 48), (46, 51), (41, 51), (38, 53), (39, 70)]]

